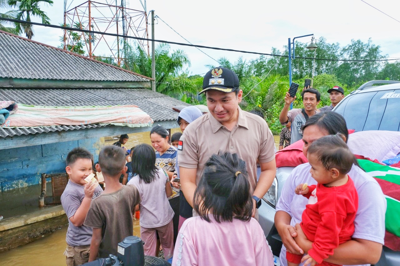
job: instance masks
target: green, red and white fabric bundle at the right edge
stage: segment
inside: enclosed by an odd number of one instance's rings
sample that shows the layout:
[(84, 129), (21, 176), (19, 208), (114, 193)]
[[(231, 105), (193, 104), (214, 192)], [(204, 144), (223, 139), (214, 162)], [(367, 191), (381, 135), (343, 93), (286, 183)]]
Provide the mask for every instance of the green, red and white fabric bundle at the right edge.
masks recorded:
[(400, 168), (362, 159), (358, 163), (376, 179), (386, 198), (385, 246), (400, 251)]

